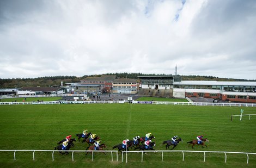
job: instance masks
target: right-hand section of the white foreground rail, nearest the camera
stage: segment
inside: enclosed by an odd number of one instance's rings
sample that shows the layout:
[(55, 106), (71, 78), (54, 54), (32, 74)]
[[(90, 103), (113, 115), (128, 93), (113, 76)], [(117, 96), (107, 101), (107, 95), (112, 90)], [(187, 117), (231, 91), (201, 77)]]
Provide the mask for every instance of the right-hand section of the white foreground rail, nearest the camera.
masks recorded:
[(127, 159), (127, 153), (138, 153), (138, 152), (141, 152), (141, 161), (143, 161), (143, 153), (144, 152), (161, 152), (162, 153), (162, 160), (163, 161), (163, 153), (164, 152), (182, 152), (182, 161), (184, 161), (184, 158), (185, 158), (185, 152), (197, 152), (197, 153), (204, 153), (204, 161), (205, 161), (205, 158), (206, 158), (206, 155), (205, 153), (224, 153), (225, 154), (225, 163), (227, 163), (227, 153), (235, 153), (235, 154), (246, 154), (247, 155), (247, 164), (249, 163), (249, 155), (248, 154), (256, 154), (256, 153), (249, 153), (249, 152), (218, 152), (218, 151), (124, 151), (122, 153), (122, 162), (123, 162), (123, 155), (124, 153), (126, 153), (126, 163), (128, 161)]

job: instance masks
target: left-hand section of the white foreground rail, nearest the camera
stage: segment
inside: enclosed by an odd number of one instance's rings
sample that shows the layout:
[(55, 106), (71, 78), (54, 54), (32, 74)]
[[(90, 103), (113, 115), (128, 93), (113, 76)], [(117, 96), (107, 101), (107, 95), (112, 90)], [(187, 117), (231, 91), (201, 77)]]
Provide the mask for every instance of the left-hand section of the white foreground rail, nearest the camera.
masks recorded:
[(117, 161), (118, 161), (118, 151), (56, 151), (56, 150), (0, 150), (1, 152), (14, 152), (14, 160), (16, 160), (16, 152), (23, 151), (23, 152), (33, 152), (33, 160), (35, 160), (35, 152), (52, 152), (52, 161), (54, 161), (54, 152), (72, 152), (72, 161), (74, 161), (74, 152), (92, 152), (92, 159), (94, 161), (94, 152), (109, 152), (111, 153), (111, 160), (113, 161), (113, 153), (117, 154)]

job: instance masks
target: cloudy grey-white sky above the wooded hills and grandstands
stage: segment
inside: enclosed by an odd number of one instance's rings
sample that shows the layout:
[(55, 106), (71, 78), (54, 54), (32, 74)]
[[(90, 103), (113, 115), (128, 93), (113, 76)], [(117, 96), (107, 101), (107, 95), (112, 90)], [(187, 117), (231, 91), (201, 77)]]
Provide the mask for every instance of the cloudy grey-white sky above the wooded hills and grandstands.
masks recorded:
[(256, 79), (256, 1), (1, 0), (0, 78)]

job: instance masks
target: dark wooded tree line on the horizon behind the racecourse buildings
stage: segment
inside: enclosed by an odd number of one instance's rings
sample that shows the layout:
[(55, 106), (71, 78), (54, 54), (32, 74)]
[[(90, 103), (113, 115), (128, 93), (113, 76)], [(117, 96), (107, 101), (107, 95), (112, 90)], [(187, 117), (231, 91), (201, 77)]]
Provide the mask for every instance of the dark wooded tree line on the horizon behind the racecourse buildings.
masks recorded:
[[(22, 88), (22, 87), (47, 87), (47, 86), (60, 86), (61, 82), (65, 83), (79, 83), (86, 77), (100, 77), (101, 75), (114, 75), (117, 78), (130, 78), (138, 79), (138, 76), (155, 76), (155, 75), (172, 75), (172, 74), (144, 74), (144, 73), (105, 73), (95, 75), (84, 75), (82, 77), (76, 76), (51, 76), (51, 77), (38, 77), (38, 78), (13, 78), (13, 79), (2, 79), (0, 78), (0, 88)], [(198, 76), (190, 75), (179, 76), (181, 80), (217, 80), (217, 81), (250, 81), (256, 82), (256, 80), (246, 79), (231, 79), (231, 78), (218, 78), (214, 76)]]

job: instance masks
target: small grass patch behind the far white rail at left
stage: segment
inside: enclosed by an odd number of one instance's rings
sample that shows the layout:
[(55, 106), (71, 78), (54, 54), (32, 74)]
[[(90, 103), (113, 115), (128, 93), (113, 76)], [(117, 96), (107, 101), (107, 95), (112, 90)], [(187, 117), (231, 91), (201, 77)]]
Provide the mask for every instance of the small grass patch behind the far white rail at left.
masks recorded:
[[(39, 101), (44, 101), (44, 102), (50, 102), (50, 101), (58, 101), (60, 99), (62, 99), (62, 97), (27, 97), (26, 98), (27, 101), (26, 102), (37, 102), (38, 99)], [(25, 101), (25, 97), (19, 97), (19, 98), (3, 98), (0, 100), (0, 102), (22, 102)]]

